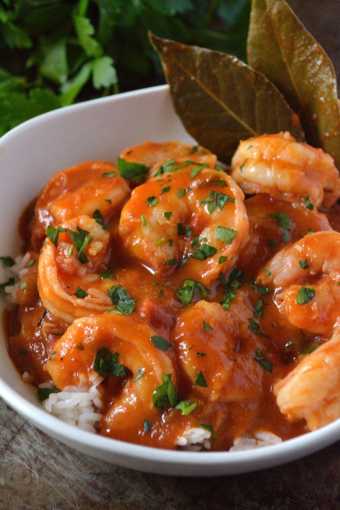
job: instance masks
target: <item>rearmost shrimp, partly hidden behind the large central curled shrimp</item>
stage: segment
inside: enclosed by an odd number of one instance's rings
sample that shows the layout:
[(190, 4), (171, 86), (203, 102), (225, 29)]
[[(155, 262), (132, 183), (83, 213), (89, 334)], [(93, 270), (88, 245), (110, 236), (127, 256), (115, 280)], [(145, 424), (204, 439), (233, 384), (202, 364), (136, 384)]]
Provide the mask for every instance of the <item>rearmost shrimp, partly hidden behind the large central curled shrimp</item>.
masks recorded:
[(127, 147), (120, 157), (125, 161), (142, 163), (150, 168), (147, 179), (154, 177), (155, 173), (164, 173), (162, 166), (167, 161), (176, 165), (186, 161), (204, 163), (210, 168), (215, 168), (217, 158), (210, 150), (200, 145), (190, 145), (182, 142), (156, 143), (144, 140), (141, 145)]

